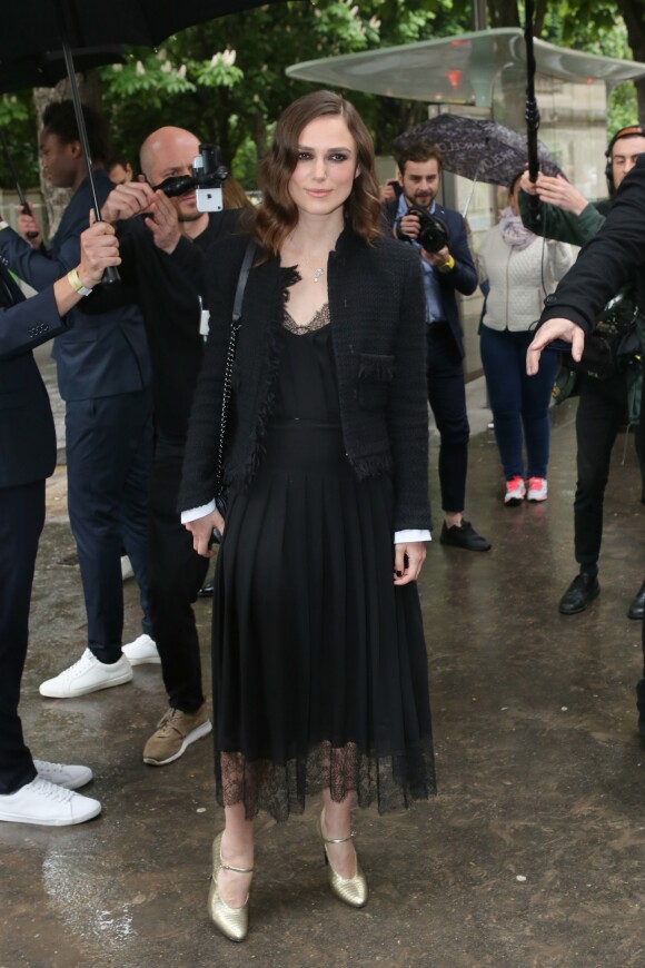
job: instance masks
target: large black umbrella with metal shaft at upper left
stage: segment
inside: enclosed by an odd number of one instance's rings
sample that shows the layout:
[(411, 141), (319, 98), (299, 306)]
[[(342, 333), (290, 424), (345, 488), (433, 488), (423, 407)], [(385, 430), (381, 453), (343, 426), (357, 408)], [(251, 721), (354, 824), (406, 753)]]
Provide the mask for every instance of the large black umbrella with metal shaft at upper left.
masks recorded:
[[(88, 178), (100, 218), (90, 147), (76, 82), (72, 48), (138, 43), (156, 47), (166, 37), (221, 17), (259, 7), (271, 0), (14, 0), (2, 11), (0, 70), (37, 58), (43, 50), (60, 47), (69, 77), (79, 139), (88, 165)], [(4, 4), (8, 6), (8, 4)], [(106, 269), (106, 279), (118, 278)]]

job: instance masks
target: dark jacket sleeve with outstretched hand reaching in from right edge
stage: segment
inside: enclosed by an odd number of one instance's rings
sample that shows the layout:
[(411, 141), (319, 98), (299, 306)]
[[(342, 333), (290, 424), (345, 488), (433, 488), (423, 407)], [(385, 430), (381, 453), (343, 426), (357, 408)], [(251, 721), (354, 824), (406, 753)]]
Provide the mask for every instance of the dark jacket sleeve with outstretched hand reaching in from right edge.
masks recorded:
[(645, 155), (625, 177), (599, 233), (547, 296), (540, 323), (563, 316), (589, 333), (607, 299), (636, 274), (637, 303), (645, 309)]

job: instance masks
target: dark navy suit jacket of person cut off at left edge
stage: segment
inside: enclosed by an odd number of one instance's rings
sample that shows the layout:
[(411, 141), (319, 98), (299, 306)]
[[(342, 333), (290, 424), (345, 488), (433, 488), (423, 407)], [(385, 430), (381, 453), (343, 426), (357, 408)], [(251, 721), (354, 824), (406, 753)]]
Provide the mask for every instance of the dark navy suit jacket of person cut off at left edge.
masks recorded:
[(62, 329), (51, 286), (26, 300), (0, 265), (0, 487), (53, 473), (53, 417), (31, 347)]

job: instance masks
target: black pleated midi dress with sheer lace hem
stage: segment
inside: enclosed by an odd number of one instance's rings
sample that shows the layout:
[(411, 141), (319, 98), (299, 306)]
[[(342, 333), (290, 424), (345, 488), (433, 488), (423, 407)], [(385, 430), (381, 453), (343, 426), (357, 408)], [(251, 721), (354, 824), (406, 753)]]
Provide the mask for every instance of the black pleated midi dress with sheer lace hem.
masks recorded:
[(394, 486), (343, 445), (327, 307), (285, 314), (258, 473), (230, 495), (212, 630), (215, 773), (247, 818), (329, 788), (380, 812), (435, 792), (415, 583), (395, 587)]

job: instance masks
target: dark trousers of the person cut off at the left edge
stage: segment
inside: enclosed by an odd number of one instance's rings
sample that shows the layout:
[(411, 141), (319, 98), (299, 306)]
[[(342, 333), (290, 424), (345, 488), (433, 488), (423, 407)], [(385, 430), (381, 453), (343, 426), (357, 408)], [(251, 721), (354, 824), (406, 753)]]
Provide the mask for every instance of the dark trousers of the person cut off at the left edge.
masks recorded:
[(0, 794), (36, 778), (18, 715), (44, 481), (0, 488)]

